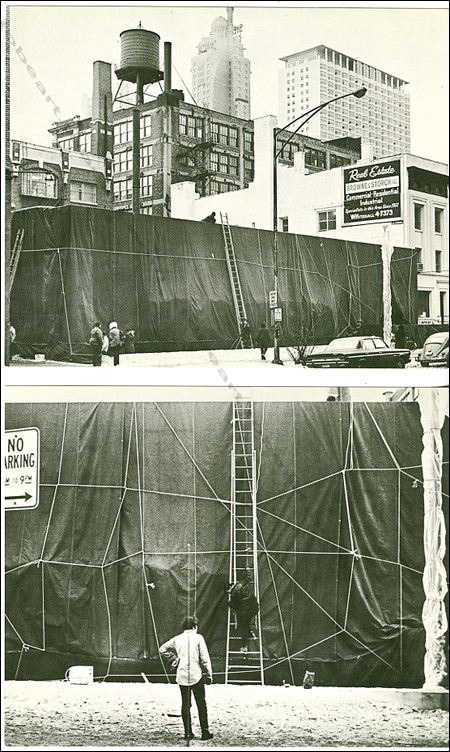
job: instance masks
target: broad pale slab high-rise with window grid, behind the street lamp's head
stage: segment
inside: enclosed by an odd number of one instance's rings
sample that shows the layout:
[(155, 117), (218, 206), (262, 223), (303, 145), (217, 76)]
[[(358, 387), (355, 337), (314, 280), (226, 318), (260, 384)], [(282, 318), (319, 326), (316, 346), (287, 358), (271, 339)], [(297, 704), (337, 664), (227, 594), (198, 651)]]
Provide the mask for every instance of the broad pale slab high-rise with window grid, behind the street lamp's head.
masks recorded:
[(410, 151), (407, 81), (323, 45), (281, 60), (285, 68), (278, 81), (280, 126), (364, 86), (363, 98), (347, 97), (328, 105), (301, 132), (323, 141), (361, 136), (372, 144), (376, 158)]

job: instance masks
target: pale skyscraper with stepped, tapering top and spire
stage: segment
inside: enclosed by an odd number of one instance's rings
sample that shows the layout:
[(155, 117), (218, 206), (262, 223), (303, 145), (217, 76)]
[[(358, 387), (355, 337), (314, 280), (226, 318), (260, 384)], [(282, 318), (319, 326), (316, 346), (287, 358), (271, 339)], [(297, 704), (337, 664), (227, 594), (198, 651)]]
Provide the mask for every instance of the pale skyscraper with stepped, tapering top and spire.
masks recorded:
[(241, 35), (242, 25), (233, 26), (233, 8), (227, 8), (227, 18), (212, 22), (192, 58), (192, 93), (200, 107), (249, 120), (250, 61)]

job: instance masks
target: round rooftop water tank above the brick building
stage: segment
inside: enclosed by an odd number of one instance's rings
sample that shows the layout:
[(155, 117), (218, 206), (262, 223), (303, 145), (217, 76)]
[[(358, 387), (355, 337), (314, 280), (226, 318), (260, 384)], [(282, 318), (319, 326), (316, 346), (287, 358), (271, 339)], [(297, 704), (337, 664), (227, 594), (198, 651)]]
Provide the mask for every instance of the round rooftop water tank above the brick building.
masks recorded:
[(136, 83), (139, 74), (141, 83), (159, 81), (159, 34), (146, 29), (128, 29), (120, 34), (120, 68), (117, 78)]

